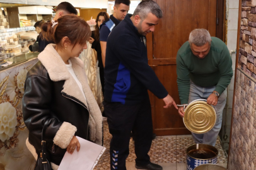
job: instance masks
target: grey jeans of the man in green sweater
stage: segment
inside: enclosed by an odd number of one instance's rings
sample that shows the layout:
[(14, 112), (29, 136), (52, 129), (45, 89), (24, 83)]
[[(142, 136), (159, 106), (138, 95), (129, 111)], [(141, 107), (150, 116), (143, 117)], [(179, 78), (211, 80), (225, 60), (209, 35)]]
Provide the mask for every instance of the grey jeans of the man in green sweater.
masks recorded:
[[(195, 85), (194, 82), (190, 81), (189, 103), (194, 101), (195, 99), (207, 99), (210, 94), (212, 94), (212, 91), (214, 91), (215, 88), (216, 86), (203, 88)], [(226, 97), (227, 92), (225, 89), (221, 96), (219, 96), (218, 104), (216, 106), (213, 106), (214, 110), (216, 111), (217, 117), (214, 127), (209, 130), (209, 132), (203, 134), (192, 133), (192, 137), (196, 144), (208, 144), (212, 146), (216, 144), (219, 130), (221, 130), (222, 115), (224, 106), (226, 105)]]

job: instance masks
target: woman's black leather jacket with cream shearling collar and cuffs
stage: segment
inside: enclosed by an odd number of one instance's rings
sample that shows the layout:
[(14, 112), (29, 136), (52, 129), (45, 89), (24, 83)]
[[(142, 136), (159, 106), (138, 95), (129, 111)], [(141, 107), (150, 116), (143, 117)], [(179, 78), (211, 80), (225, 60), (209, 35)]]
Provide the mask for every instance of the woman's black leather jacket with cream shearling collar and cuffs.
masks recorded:
[(59, 165), (74, 135), (102, 144), (102, 113), (88, 86), (80, 59), (70, 60), (86, 98), (55, 52), (54, 45), (48, 45), (38, 55), (38, 60), (26, 76), (23, 119), (29, 131), (28, 142), (35, 147), (38, 156), (46, 122), (43, 136), (49, 159)]

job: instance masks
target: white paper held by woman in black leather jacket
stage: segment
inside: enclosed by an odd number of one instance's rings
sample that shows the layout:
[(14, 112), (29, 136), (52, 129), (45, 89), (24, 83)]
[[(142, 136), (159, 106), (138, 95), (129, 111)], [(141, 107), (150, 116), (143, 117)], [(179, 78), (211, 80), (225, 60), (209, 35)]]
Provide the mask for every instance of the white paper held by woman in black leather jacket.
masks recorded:
[(105, 151), (105, 147), (88, 140), (76, 137), (81, 145), (79, 152), (75, 149), (73, 154), (66, 152), (58, 170), (91, 170)]

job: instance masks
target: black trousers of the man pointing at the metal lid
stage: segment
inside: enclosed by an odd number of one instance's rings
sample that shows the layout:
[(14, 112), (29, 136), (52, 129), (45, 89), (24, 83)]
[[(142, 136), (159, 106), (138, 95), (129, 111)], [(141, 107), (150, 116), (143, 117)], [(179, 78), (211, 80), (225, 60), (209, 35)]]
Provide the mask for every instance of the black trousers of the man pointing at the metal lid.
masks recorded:
[(122, 105), (121, 103), (103, 102), (107, 116), (110, 141), (111, 169), (125, 170), (125, 159), (129, 155), (131, 131), (134, 139), (136, 164), (146, 165), (150, 162), (148, 156), (152, 142), (152, 117), (149, 98), (137, 105)]

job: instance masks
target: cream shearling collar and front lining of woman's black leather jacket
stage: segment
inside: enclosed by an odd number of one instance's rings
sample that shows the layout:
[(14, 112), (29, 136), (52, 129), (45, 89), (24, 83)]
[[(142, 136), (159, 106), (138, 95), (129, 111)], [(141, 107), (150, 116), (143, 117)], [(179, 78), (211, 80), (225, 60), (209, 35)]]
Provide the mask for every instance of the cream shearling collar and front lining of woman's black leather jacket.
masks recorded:
[(83, 86), (86, 99), (84, 99), (81, 91), (78, 90), (78, 84), (69, 73), (61, 56), (55, 50), (54, 44), (47, 45), (44, 51), (38, 55), (38, 60), (40, 60), (45, 69), (47, 69), (52, 81), (65, 81), (62, 92), (78, 99), (88, 108), (90, 112), (90, 140), (96, 142), (96, 144), (102, 144), (102, 112), (96, 103), (93, 93), (91, 93), (88, 79), (84, 72), (83, 62), (78, 57), (72, 57), (70, 59), (74, 73)]

